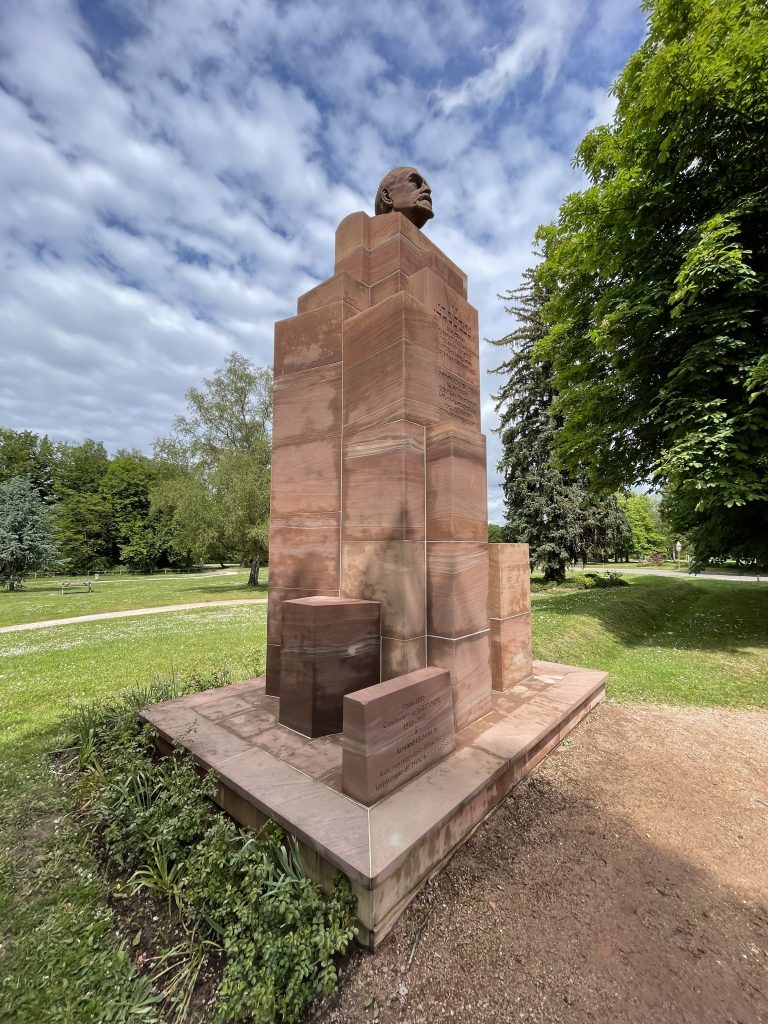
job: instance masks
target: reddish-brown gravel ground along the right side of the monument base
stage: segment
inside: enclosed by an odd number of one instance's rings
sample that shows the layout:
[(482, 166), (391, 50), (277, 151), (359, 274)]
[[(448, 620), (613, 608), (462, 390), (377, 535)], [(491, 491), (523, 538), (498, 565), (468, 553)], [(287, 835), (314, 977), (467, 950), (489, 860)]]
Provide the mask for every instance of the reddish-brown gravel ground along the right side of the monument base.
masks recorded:
[(598, 708), (314, 1020), (768, 1022), (768, 714)]

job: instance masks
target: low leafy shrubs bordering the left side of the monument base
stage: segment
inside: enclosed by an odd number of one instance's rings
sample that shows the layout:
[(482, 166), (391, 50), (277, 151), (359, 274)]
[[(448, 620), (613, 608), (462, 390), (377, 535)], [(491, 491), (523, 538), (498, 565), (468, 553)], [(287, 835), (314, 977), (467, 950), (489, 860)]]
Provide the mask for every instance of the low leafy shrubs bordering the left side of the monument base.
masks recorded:
[(334, 957), (354, 935), (354, 901), (341, 876), (323, 893), (280, 828), (252, 833), (217, 810), (208, 799), (215, 774), (201, 778), (189, 755), (156, 755), (154, 731), (139, 725), (137, 709), (210, 686), (198, 678), (78, 709), (70, 722), (77, 791), (106, 856), (131, 872), (128, 891), (165, 900), (184, 933), (184, 943), (166, 953), (171, 966), (162, 958), (176, 1019), (216, 953), (223, 968), (215, 1020), (296, 1021), (335, 987)]

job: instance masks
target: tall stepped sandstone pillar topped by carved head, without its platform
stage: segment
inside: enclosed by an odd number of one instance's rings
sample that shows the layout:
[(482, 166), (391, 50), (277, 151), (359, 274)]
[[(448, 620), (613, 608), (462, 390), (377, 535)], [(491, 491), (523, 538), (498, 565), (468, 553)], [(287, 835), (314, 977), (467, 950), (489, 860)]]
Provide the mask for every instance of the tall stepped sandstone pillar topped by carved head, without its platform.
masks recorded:
[[(275, 327), (266, 691), (285, 724), (286, 614), (309, 597), (339, 616), (349, 599), (381, 609), (378, 672), (350, 673), (347, 692), (445, 670), (456, 729), (531, 672), (526, 593), (511, 612), (497, 585), (489, 604), (477, 311), (420, 230), (432, 216), (424, 177), (390, 171), (376, 215), (339, 225), (334, 275)], [(502, 547), (495, 579), (527, 565), (522, 546)], [(360, 642), (352, 628), (345, 640)]]

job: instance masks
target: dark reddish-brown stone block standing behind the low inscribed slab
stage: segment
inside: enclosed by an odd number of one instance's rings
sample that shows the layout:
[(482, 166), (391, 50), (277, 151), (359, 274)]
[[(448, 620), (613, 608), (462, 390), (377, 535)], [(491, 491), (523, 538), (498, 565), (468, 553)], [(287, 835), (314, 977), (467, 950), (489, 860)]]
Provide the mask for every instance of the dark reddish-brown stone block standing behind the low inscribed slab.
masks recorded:
[(311, 737), (340, 732), (344, 695), (379, 681), (379, 604), (305, 597), (282, 611), (280, 723)]

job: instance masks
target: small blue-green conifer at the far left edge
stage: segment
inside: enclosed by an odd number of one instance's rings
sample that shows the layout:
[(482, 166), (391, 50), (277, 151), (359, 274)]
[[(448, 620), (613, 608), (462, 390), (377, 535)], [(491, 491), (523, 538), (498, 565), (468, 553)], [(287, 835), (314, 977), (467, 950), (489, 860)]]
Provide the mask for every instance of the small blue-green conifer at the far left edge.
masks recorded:
[(25, 575), (56, 555), (50, 512), (34, 483), (14, 476), (0, 483), (0, 581), (18, 590)]

